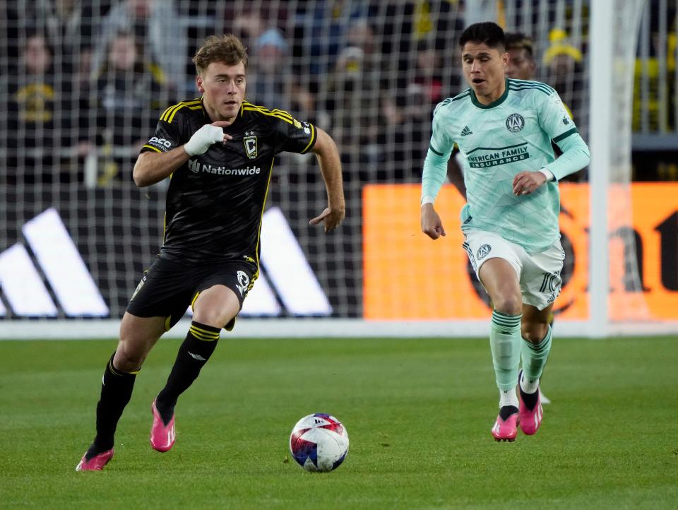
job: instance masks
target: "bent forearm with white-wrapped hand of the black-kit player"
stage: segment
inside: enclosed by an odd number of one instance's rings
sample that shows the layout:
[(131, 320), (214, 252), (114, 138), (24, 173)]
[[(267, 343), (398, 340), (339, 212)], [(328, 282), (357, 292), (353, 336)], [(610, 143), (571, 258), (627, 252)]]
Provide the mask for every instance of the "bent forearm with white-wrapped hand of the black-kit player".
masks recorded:
[(216, 121), (198, 129), (191, 139), (181, 147), (168, 150), (166, 153), (141, 153), (134, 164), (132, 177), (134, 184), (143, 188), (169, 177), (191, 156), (207, 152), (213, 143), (226, 143), (233, 137), (225, 134), (223, 128), (230, 125), (226, 121)]

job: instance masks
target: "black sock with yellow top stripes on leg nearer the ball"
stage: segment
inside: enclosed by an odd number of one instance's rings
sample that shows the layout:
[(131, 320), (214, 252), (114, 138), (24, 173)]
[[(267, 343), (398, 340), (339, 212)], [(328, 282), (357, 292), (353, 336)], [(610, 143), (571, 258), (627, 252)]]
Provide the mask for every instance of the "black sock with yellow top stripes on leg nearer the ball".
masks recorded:
[(165, 425), (172, 420), (177, 398), (188, 389), (200, 373), (200, 369), (217, 347), (221, 328), (193, 321), (186, 339), (177, 353), (172, 372), (167, 377), (165, 388), (157, 394), (155, 407)]

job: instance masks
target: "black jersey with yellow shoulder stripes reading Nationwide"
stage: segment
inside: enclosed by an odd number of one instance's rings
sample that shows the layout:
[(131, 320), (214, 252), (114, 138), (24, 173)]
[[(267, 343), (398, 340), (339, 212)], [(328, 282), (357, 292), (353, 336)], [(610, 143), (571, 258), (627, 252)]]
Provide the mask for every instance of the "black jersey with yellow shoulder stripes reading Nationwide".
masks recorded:
[[(167, 152), (211, 124), (200, 98), (165, 110), (155, 136), (141, 149)], [(263, 206), (275, 155), (307, 153), (316, 129), (279, 109), (244, 101), (237, 119), (224, 128), (233, 139), (191, 156), (169, 177), (165, 236), (160, 256), (199, 263), (256, 261)]]

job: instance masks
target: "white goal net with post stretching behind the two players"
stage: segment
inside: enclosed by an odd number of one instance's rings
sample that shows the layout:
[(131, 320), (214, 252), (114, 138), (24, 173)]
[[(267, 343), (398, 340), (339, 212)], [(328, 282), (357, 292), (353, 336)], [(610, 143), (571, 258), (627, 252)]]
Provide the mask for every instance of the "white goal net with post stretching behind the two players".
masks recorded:
[[(630, 181), (643, 2), (593, 4), (4, 2), (0, 337), (117, 334), (163, 234), (167, 184), (138, 189), (133, 162), (160, 114), (198, 95), (191, 56), (224, 32), (249, 49), (247, 100), (333, 136), (347, 198), (338, 231), (312, 227), (326, 206), (316, 160), (280, 155), (263, 215), (261, 278), (235, 333), (484, 335), (490, 310), (460, 249), (463, 198), (454, 186), (436, 201), (446, 239), (429, 242), (419, 227), (432, 111), (466, 88), (458, 38), (482, 20), (532, 40), (534, 79), (559, 91), (592, 149), (590, 167), (561, 183), (567, 258), (558, 327), (601, 336), (614, 323), (641, 321), (650, 331), (676, 321), (677, 268), (666, 252), (677, 245), (677, 190)], [(609, 34), (593, 30), (596, 8)], [(592, 78), (599, 47), (607, 53), (597, 58), (609, 63), (603, 82)], [(594, 101), (596, 88), (607, 110)], [(600, 131), (589, 119), (602, 122)], [(600, 214), (605, 221), (595, 223)]]

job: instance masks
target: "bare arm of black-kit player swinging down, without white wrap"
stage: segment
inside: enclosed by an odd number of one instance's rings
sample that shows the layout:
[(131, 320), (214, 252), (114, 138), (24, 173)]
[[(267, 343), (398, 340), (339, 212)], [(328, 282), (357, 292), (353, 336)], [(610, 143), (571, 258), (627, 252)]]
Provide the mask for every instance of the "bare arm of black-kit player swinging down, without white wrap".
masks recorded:
[(316, 129), (318, 134), (312, 151), (318, 158), (320, 171), (323, 174), (323, 180), (327, 189), (328, 206), (309, 223), (311, 225), (318, 225), (323, 222), (325, 232), (329, 232), (338, 227), (346, 215), (344, 187), (341, 177), (341, 160), (337, 144), (334, 143), (331, 136), (322, 129)]

